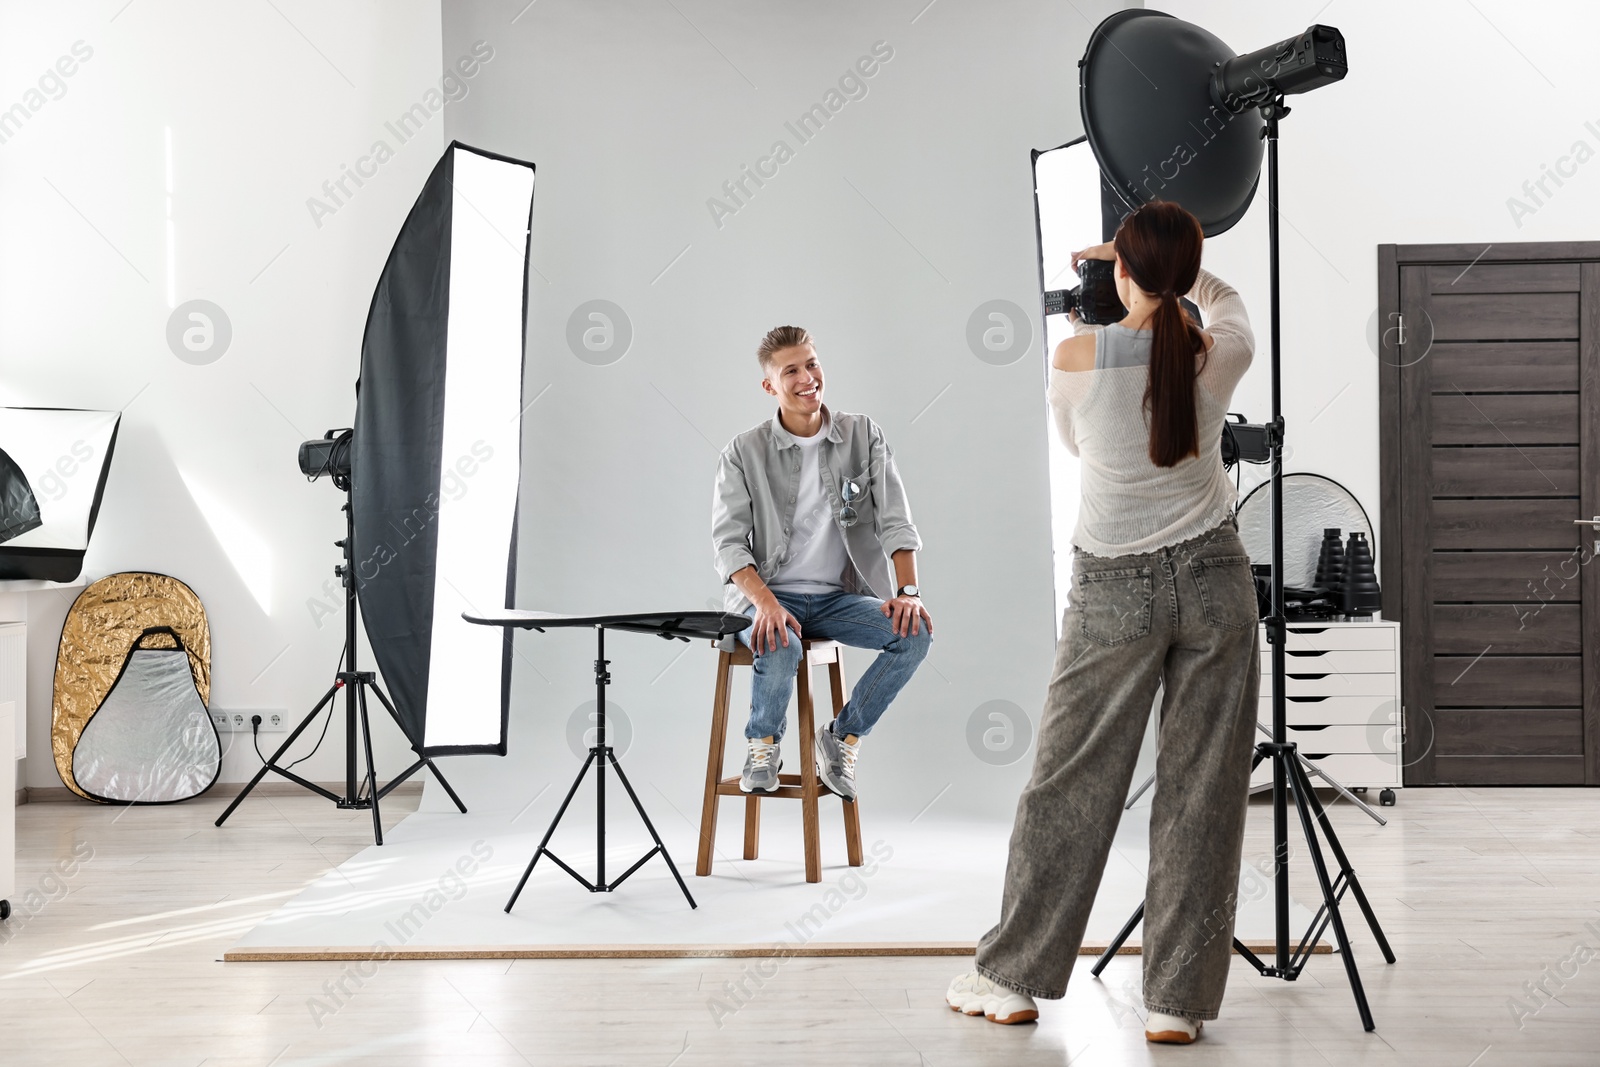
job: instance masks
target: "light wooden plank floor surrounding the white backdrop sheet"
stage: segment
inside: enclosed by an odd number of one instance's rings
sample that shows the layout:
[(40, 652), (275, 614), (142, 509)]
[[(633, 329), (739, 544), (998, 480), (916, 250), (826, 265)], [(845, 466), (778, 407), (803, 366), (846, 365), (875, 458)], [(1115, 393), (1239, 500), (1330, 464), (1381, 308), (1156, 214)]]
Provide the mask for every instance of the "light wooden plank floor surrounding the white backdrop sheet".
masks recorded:
[[(1339, 957), (1294, 984), (1235, 958), (1222, 1017), (1189, 1048), (1144, 1043), (1138, 957), (1102, 981), (1080, 960), (1067, 998), (1019, 1027), (949, 1011), (963, 965), (947, 958), (224, 965), (371, 822), (266, 797), (216, 830), (221, 805), (18, 809), (0, 1064), (1600, 1064), (1600, 790), (1406, 790), (1389, 827), (1338, 806), (1398, 955), (1384, 966), (1350, 909), (1378, 1032), (1362, 1032)], [(414, 805), (397, 798), (387, 821)], [(1269, 822), (1253, 805), (1246, 856), (1269, 851)], [(1294, 870), (1312, 901), (1307, 864)], [(1581, 942), (1594, 960), (1573, 955)], [(730, 995), (741, 981), (749, 995)]]

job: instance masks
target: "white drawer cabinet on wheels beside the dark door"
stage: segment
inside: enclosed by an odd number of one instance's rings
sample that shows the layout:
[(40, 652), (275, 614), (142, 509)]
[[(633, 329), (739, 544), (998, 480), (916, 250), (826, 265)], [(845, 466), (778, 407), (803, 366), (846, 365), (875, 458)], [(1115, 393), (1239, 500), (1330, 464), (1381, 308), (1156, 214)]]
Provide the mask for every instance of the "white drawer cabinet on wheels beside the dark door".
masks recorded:
[[(1286, 736), (1339, 784), (1398, 789), (1400, 625), (1397, 622), (1291, 622), (1285, 641)], [(1272, 646), (1261, 629), (1261, 725), (1272, 728)], [(1251, 785), (1272, 781), (1262, 763)], [(1315, 779), (1312, 779), (1315, 781)], [(1390, 800), (1392, 793), (1384, 793)]]

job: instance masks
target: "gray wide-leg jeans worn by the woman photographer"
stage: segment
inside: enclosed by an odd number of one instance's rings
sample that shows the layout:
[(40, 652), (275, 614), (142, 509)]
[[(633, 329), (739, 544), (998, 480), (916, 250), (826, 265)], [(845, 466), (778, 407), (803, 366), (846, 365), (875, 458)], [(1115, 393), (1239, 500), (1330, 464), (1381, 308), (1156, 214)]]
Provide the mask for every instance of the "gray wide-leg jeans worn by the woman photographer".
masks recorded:
[(1216, 1017), (1261, 685), (1256, 616), (1250, 558), (1230, 520), (1150, 553), (1074, 552), (1000, 923), (978, 942), (984, 977), (1032, 997), (1066, 995), (1160, 681), (1144, 1005)]

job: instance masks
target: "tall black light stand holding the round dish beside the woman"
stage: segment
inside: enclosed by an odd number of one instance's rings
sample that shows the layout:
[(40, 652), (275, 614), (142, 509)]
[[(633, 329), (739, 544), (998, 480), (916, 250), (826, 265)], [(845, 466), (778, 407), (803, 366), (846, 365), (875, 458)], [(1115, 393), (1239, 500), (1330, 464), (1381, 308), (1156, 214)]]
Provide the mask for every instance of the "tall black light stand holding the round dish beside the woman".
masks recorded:
[[(1384, 960), (1387, 963), (1394, 963), (1395, 953), (1389, 947), (1389, 939), (1384, 937), (1382, 928), (1378, 925), (1378, 917), (1373, 913), (1373, 907), (1366, 901), (1366, 894), (1362, 891), (1362, 883), (1357, 880), (1355, 870), (1350, 867), (1350, 861), (1344, 854), (1344, 848), (1339, 845), (1338, 835), (1333, 832), (1333, 824), (1328, 821), (1326, 809), (1322, 806), (1322, 801), (1317, 798), (1317, 792), (1310, 785), (1310, 777), (1307, 777), (1306, 768), (1301, 765), (1296, 744), (1283, 739), (1288, 725), (1288, 701), (1285, 688), (1285, 640), (1288, 633), (1288, 619), (1285, 617), (1283, 609), (1283, 395), (1280, 381), (1282, 352), (1278, 312), (1278, 118), (1288, 112), (1290, 109), (1283, 106), (1282, 94), (1275, 96), (1270, 102), (1261, 107), (1261, 117), (1266, 120), (1266, 130), (1262, 133), (1267, 139), (1267, 243), (1272, 301), (1272, 422), (1267, 426), (1267, 443), (1272, 450), (1272, 611), (1264, 619), (1267, 625), (1267, 641), (1272, 645), (1272, 739), (1262, 741), (1256, 745), (1256, 755), (1250, 765), (1251, 771), (1254, 771), (1262, 760), (1272, 760), (1275, 953), (1272, 963), (1267, 963), (1246, 949), (1238, 937), (1234, 939), (1234, 949), (1238, 955), (1245, 957), (1245, 960), (1248, 960), (1259, 974), (1293, 982), (1301, 976), (1301, 971), (1304, 971), (1306, 963), (1310, 960), (1317, 939), (1322, 937), (1323, 931), (1326, 931), (1331, 923), (1333, 936), (1338, 941), (1339, 953), (1344, 958), (1344, 974), (1349, 979), (1350, 992), (1355, 997), (1355, 1009), (1362, 1016), (1362, 1025), (1366, 1030), (1371, 1030), (1374, 1029), (1373, 1013), (1366, 1005), (1366, 990), (1362, 985), (1362, 974), (1355, 968), (1355, 957), (1350, 953), (1350, 939), (1346, 934), (1344, 917), (1339, 912), (1339, 902), (1344, 899), (1346, 893), (1355, 897), (1357, 905), (1362, 909), (1362, 915), (1366, 918), (1366, 925), (1373, 931), (1373, 937), (1378, 939), (1378, 949), (1384, 953)], [(1290, 793), (1294, 797), (1294, 809), (1299, 814), (1301, 830), (1306, 833), (1306, 851), (1310, 854), (1312, 869), (1317, 873), (1317, 885), (1322, 889), (1322, 907), (1317, 909), (1310, 926), (1293, 949), (1290, 947)], [(1323, 857), (1318, 832), (1322, 840), (1326, 841), (1328, 851), (1333, 853), (1333, 857), (1338, 862), (1338, 873), (1331, 878), (1328, 873), (1328, 862)], [(1094, 961), (1094, 966), (1090, 971), (1091, 974), (1099, 976), (1106, 965), (1110, 963), (1110, 958), (1117, 955), (1117, 950), (1128, 939), (1128, 934), (1133, 933), (1133, 928), (1141, 918), (1144, 918), (1142, 902), (1099, 960)]]

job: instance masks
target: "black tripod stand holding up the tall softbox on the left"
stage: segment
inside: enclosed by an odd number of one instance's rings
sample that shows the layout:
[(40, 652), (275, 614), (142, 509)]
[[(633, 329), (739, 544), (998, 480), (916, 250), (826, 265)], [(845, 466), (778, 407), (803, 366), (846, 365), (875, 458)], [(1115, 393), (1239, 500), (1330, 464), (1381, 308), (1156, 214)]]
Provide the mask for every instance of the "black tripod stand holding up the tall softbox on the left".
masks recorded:
[[(278, 750), (274, 752), (272, 757), (261, 765), (261, 769), (256, 771), (256, 776), (253, 779), (250, 779), (250, 784), (238, 792), (238, 797), (234, 797), (234, 803), (230, 803), (227, 809), (221, 816), (218, 816), (216, 825), (222, 825), (227, 821), (227, 817), (234, 814), (234, 809), (238, 808), (238, 805), (243, 803), (245, 797), (248, 797), (250, 792), (261, 784), (261, 779), (267, 776), (267, 771), (280, 774), (294, 782), (296, 785), (301, 785), (302, 789), (309, 789), (314, 793), (326, 797), (338, 808), (354, 808), (354, 809), (371, 808), (374, 845), (384, 843), (384, 825), (378, 814), (378, 801), (387, 797), (395, 785), (406, 781), (424, 766), (430, 769), (434, 773), (434, 777), (438, 779), (438, 784), (445, 787), (445, 792), (450, 793), (450, 798), (456, 803), (456, 808), (459, 808), (462, 814), (466, 814), (467, 811), (467, 806), (461, 803), (461, 797), (456, 795), (456, 790), (451, 789), (450, 782), (445, 781), (445, 776), (440, 774), (438, 766), (434, 765), (434, 760), (422, 755), (421, 749), (416, 744), (416, 737), (411, 736), (411, 731), (406, 729), (405, 721), (400, 718), (400, 712), (395, 710), (395, 705), (389, 702), (389, 696), (378, 685), (376, 672), (357, 669), (355, 664), (357, 605), (355, 605), (355, 569), (352, 555), (355, 550), (354, 549), (355, 515), (350, 512), (349, 483), (344, 485), (344, 541), (334, 541), (334, 544), (344, 550), (344, 563), (333, 568), (333, 573), (338, 574), (339, 579), (344, 582), (344, 670), (334, 675), (333, 685), (328, 686), (328, 691), (323, 693), (320, 701), (317, 701), (317, 707), (307, 712), (306, 718), (301, 720), (299, 726), (296, 726), (294, 731), (288, 736), (288, 739), (282, 745), (278, 745)], [(317, 720), (317, 717), (322, 713), (322, 709), (333, 704), (333, 699), (339, 694), (339, 689), (344, 689), (344, 795), (342, 797), (339, 797), (333, 790), (323, 789), (317, 782), (301, 777), (290, 768), (278, 765), (278, 760), (283, 758), (283, 753), (288, 752), (290, 745), (294, 744), (294, 741), (302, 733), (306, 733), (306, 729), (312, 725), (312, 721)], [(389, 717), (395, 720), (395, 725), (400, 728), (400, 733), (403, 733), (406, 741), (411, 742), (411, 750), (416, 752), (418, 755), (416, 763), (402, 771), (398, 777), (390, 779), (390, 782), (382, 789), (378, 787), (378, 771), (373, 766), (373, 728), (366, 718), (368, 689), (371, 689), (373, 696), (376, 696), (378, 701), (384, 705), (384, 710), (389, 712)], [(328, 713), (331, 715), (333, 712), (330, 710)], [(360, 781), (355, 779), (357, 723), (360, 723), (362, 749), (365, 750), (366, 755), (366, 776), (362, 777)]]

